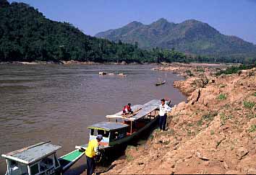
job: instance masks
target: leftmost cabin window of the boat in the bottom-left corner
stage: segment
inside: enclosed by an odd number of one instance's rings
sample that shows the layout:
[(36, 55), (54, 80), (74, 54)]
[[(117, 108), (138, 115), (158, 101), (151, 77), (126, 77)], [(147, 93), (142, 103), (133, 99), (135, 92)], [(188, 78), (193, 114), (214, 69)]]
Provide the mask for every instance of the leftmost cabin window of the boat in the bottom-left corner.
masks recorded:
[(28, 175), (27, 165), (17, 161), (9, 162), (9, 174), (10, 175)]

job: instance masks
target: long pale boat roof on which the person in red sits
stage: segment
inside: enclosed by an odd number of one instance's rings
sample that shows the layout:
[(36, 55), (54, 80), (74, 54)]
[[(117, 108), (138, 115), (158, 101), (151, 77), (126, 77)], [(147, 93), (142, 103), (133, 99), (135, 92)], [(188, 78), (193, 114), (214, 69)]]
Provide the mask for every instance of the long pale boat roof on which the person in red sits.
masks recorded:
[[(168, 104), (167, 101), (166, 101), (166, 103)], [(140, 119), (141, 117), (144, 117), (145, 115), (150, 114), (150, 112), (153, 112), (155, 109), (158, 109), (160, 104), (161, 104), (161, 101), (159, 99), (153, 99), (153, 100), (151, 100), (150, 102), (148, 102), (146, 104), (143, 104), (143, 105), (137, 104), (135, 106), (132, 106), (131, 107), (132, 111), (139, 110), (137, 112), (137, 114), (132, 116), (132, 117), (127, 118), (125, 116), (122, 116), (121, 115), (123, 113), (122, 111), (121, 112), (117, 112), (114, 115), (107, 115), (106, 117), (108, 119), (111, 119), (111, 118), (122, 118), (124, 120), (134, 121), (134, 120)]]

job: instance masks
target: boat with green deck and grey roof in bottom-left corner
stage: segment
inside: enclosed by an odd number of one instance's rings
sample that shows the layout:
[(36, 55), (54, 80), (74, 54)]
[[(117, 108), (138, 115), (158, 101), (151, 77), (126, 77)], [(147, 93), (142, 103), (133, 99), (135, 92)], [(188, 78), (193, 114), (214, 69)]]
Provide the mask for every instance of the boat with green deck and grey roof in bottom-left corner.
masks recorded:
[(7, 161), (6, 175), (61, 175), (84, 155), (75, 150), (57, 158), (56, 151), (60, 148), (43, 142), (2, 154)]

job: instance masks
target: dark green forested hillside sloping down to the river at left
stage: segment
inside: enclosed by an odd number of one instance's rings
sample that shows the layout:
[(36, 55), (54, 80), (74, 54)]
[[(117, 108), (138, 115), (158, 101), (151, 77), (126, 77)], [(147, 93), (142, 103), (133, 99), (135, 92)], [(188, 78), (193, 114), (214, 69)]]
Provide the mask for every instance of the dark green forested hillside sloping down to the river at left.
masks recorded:
[(0, 61), (155, 61), (136, 45), (90, 37), (67, 22), (54, 22), (24, 3), (0, 0)]

